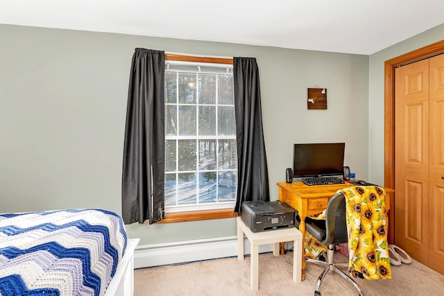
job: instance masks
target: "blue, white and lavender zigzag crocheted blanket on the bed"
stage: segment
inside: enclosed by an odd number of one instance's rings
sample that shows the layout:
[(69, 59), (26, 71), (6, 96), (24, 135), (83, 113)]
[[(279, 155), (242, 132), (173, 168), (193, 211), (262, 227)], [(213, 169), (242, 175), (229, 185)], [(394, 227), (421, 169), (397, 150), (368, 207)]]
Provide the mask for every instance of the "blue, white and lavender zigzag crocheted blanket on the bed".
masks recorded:
[(0, 214), (0, 295), (103, 295), (127, 243), (112, 211)]

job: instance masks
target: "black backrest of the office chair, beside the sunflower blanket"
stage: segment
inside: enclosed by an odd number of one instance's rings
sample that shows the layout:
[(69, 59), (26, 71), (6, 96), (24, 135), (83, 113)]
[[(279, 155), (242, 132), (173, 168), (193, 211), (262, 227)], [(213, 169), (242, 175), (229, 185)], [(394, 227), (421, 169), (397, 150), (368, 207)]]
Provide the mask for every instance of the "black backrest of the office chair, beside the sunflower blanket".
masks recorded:
[(336, 245), (348, 242), (347, 216), (345, 210), (345, 195), (336, 193), (329, 200), (325, 211), (325, 240), (324, 245)]

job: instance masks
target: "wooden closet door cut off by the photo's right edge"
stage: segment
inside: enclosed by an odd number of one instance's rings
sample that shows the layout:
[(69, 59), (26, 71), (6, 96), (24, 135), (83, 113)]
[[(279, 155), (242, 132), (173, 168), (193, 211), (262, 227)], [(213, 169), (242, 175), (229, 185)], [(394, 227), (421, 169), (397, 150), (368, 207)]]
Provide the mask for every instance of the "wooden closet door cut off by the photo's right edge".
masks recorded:
[(429, 267), (444, 275), (444, 55), (429, 63)]

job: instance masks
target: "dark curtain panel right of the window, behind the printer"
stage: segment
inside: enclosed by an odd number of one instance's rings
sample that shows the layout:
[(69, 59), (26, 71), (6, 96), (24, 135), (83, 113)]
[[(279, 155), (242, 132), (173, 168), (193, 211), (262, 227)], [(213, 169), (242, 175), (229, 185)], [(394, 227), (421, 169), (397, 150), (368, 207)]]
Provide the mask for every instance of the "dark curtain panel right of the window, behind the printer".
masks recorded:
[(246, 200), (270, 200), (259, 69), (255, 58), (233, 58), (234, 110), (237, 136), (237, 198), (240, 214)]

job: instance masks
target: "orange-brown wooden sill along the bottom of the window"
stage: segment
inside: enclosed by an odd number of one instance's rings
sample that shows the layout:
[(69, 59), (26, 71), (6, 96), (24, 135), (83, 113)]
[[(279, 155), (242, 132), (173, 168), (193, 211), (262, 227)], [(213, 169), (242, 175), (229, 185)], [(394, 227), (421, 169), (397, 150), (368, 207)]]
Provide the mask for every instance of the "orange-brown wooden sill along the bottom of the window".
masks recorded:
[(181, 211), (177, 213), (166, 213), (164, 220), (159, 221), (156, 224), (237, 217), (237, 213), (233, 212), (234, 209), (213, 209), (205, 211)]

